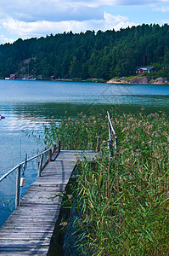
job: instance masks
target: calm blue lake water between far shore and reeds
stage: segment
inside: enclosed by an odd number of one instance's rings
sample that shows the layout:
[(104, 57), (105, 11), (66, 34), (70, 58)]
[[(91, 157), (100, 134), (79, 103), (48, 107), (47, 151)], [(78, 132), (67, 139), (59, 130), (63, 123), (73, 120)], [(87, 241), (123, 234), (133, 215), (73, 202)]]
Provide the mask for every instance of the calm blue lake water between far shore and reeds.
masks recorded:
[[(71, 117), (77, 113), (136, 112), (144, 107), (146, 113), (163, 111), (169, 114), (169, 86), (148, 84), (99, 84), (74, 82), (41, 82), (0, 80), (0, 177), (28, 157), (42, 151), (34, 131), (42, 134), (43, 124), (54, 116), (59, 119), (65, 111)], [(37, 162), (29, 164), (26, 185), (37, 177)], [(0, 183), (0, 226), (14, 207), (15, 174)], [(3, 203), (6, 206), (3, 209)]]

